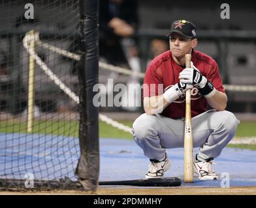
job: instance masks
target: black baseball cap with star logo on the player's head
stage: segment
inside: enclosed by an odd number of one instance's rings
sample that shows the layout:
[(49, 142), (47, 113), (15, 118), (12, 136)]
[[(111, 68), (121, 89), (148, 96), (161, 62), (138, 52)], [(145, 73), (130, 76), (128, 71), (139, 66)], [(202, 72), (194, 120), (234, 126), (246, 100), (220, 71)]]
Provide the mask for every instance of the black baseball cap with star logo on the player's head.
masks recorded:
[(170, 32), (167, 33), (167, 36), (171, 36), (172, 32), (177, 32), (187, 38), (195, 38), (197, 35), (197, 28), (193, 23), (185, 19), (176, 20), (170, 26)]

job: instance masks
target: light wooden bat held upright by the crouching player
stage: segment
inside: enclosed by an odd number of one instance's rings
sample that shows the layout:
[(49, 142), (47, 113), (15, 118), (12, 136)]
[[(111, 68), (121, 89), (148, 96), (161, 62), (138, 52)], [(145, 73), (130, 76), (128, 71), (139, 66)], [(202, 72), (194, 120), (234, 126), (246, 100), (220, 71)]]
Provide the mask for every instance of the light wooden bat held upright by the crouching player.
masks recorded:
[[(191, 54), (185, 55), (185, 67), (191, 67)], [(193, 183), (193, 136), (191, 124), (191, 89), (185, 92), (184, 182)]]

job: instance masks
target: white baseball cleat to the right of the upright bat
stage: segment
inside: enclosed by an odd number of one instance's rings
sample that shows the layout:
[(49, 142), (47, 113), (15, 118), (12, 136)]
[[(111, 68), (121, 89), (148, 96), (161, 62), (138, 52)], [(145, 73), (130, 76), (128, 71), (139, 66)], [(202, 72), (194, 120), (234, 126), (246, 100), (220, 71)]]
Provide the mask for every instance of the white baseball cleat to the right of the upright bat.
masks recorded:
[(194, 173), (199, 175), (199, 180), (217, 180), (218, 175), (216, 172), (214, 172), (214, 168), (212, 168), (212, 165), (214, 163), (214, 159), (210, 158), (205, 161), (199, 161), (197, 159), (197, 155), (194, 159)]

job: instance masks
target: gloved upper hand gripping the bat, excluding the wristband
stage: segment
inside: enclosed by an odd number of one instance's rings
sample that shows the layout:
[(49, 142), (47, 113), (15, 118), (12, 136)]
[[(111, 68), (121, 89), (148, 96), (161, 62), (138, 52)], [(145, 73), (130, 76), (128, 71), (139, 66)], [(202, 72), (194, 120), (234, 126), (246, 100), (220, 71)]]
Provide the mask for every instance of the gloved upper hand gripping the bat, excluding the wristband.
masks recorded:
[(199, 70), (191, 62), (191, 68), (185, 68), (180, 72), (179, 79), (184, 84), (195, 85), (198, 88), (204, 88), (207, 79), (204, 77)]

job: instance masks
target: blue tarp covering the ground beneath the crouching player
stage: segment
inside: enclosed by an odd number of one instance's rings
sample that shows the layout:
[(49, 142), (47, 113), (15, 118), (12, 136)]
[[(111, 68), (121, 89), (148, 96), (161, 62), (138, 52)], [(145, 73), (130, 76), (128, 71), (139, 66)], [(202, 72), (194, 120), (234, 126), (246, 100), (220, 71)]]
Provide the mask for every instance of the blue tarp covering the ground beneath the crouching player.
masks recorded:
[[(35, 179), (65, 176), (76, 179), (74, 168), (79, 152), (78, 138), (0, 134), (0, 177), (20, 179), (26, 172), (32, 172)], [(167, 149), (172, 166), (166, 177), (183, 178), (183, 153), (183, 148)], [(101, 138), (100, 156), (100, 181), (141, 179), (150, 164), (133, 140)], [(219, 180), (195, 179), (195, 183), (183, 183), (182, 186), (221, 187), (221, 179), (227, 179), (227, 176), (231, 187), (256, 186), (256, 151), (225, 148), (215, 162), (214, 170), (219, 174)]]

